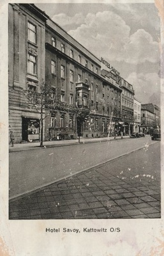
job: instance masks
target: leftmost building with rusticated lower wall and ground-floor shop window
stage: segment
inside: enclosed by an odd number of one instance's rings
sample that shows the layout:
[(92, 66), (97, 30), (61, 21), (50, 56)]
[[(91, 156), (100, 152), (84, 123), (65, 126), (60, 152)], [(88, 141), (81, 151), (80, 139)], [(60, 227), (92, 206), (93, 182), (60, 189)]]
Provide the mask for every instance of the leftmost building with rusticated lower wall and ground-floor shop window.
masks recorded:
[(39, 90), (45, 79), (45, 22), (34, 4), (8, 5), (9, 127), (15, 142), (39, 140), (40, 114), (24, 90)]

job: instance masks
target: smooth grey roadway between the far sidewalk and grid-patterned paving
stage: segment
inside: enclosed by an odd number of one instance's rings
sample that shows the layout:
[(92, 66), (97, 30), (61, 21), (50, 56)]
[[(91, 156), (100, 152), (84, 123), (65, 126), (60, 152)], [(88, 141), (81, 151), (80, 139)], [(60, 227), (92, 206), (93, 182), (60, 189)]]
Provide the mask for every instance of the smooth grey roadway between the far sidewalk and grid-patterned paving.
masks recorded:
[(54, 181), (69, 177), (100, 163), (105, 163), (152, 143), (145, 138), (103, 141), (56, 148), (11, 152), (10, 198), (22, 195)]

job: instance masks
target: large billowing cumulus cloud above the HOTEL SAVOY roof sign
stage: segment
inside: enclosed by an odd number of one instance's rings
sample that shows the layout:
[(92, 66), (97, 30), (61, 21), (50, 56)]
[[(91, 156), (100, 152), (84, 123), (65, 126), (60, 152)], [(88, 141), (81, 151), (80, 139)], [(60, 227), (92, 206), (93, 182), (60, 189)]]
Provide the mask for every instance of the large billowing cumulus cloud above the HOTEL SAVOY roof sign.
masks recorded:
[(88, 13), (77, 29), (68, 32), (98, 58), (144, 63), (159, 61), (158, 42), (144, 29), (130, 35), (130, 26), (114, 12)]

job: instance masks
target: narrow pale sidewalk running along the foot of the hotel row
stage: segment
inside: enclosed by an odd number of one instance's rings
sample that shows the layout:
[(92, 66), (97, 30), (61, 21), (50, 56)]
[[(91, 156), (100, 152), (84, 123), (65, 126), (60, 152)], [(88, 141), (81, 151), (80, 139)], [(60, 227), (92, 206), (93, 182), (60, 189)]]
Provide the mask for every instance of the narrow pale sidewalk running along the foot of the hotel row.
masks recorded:
[[(123, 136), (123, 139), (130, 138), (130, 136)], [(104, 137), (104, 138), (83, 138), (80, 137), (80, 143), (95, 143), (100, 141), (108, 141), (108, 140), (121, 140), (121, 136), (116, 137)], [(75, 145), (78, 144), (77, 140), (60, 140), (60, 141), (43, 141), (43, 147), (61, 147), (66, 145)], [(14, 144), (13, 147), (9, 145), (9, 152), (17, 152), (24, 150), (33, 150), (41, 148), (40, 142), (27, 142), (27, 143), (18, 143)]]

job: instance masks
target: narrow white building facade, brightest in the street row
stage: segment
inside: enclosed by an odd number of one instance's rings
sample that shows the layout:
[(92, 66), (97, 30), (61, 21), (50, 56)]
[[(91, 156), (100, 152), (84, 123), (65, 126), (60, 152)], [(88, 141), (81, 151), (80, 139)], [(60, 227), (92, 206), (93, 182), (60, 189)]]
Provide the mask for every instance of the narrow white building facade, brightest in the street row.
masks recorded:
[(134, 126), (133, 132), (140, 132), (141, 102), (134, 97)]

